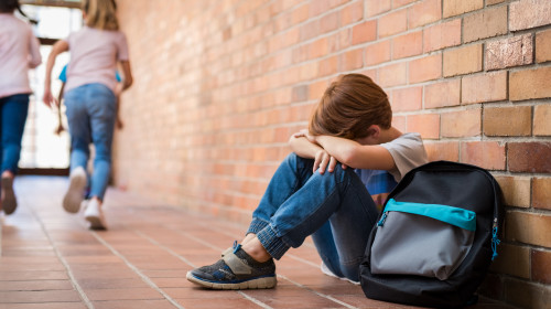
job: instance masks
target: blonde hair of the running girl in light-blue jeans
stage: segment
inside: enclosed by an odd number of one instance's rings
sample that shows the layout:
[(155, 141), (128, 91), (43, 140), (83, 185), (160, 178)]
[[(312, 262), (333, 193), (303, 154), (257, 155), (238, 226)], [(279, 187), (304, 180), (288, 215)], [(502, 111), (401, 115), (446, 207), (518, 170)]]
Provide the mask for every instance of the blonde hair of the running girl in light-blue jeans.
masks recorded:
[(86, 13), (86, 25), (100, 30), (119, 30), (115, 0), (84, 0), (83, 11)]

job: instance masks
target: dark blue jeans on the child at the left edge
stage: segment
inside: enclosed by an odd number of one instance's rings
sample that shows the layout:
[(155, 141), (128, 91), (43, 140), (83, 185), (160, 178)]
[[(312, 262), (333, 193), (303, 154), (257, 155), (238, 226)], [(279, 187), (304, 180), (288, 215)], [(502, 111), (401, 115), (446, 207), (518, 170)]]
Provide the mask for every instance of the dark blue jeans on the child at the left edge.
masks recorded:
[(21, 156), (21, 139), (25, 128), (26, 114), (29, 113), (29, 95), (12, 95), (0, 98), (2, 145), (2, 172), (18, 172)]

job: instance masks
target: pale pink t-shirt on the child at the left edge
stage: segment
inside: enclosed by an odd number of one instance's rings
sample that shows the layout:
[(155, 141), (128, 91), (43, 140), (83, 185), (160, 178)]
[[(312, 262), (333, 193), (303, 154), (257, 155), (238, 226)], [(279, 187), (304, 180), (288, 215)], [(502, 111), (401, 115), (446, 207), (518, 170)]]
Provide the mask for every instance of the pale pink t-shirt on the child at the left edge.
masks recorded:
[(12, 13), (0, 13), (0, 98), (32, 93), (29, 68), (42, 63), (32, 29)]

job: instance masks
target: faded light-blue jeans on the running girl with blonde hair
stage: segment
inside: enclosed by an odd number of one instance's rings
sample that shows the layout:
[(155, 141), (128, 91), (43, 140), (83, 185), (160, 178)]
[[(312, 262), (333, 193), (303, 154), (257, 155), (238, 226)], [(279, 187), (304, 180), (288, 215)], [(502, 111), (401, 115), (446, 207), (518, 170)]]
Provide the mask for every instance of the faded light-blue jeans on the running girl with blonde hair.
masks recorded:
[(94, 143), (96, 157), (89, 178), (89, 196), (104, 200), (111, 172), (111, 145), (116, 120), (116, 97), (102, 84), (86, 84), (65, 94), (71, 135), (71, 170), (86, 170)]

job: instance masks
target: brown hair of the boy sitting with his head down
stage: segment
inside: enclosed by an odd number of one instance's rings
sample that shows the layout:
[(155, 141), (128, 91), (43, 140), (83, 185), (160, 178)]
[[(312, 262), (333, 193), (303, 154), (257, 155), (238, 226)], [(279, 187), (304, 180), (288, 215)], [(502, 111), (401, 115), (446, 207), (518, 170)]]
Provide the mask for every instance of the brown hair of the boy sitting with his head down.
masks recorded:
[(313, 135), (357, 139), (367, 137), (371, 125), (389, 129), (391, 120), (392, 110), (382, 88), (366, 75), (347, 74), (327, 87), (309, 130)]

